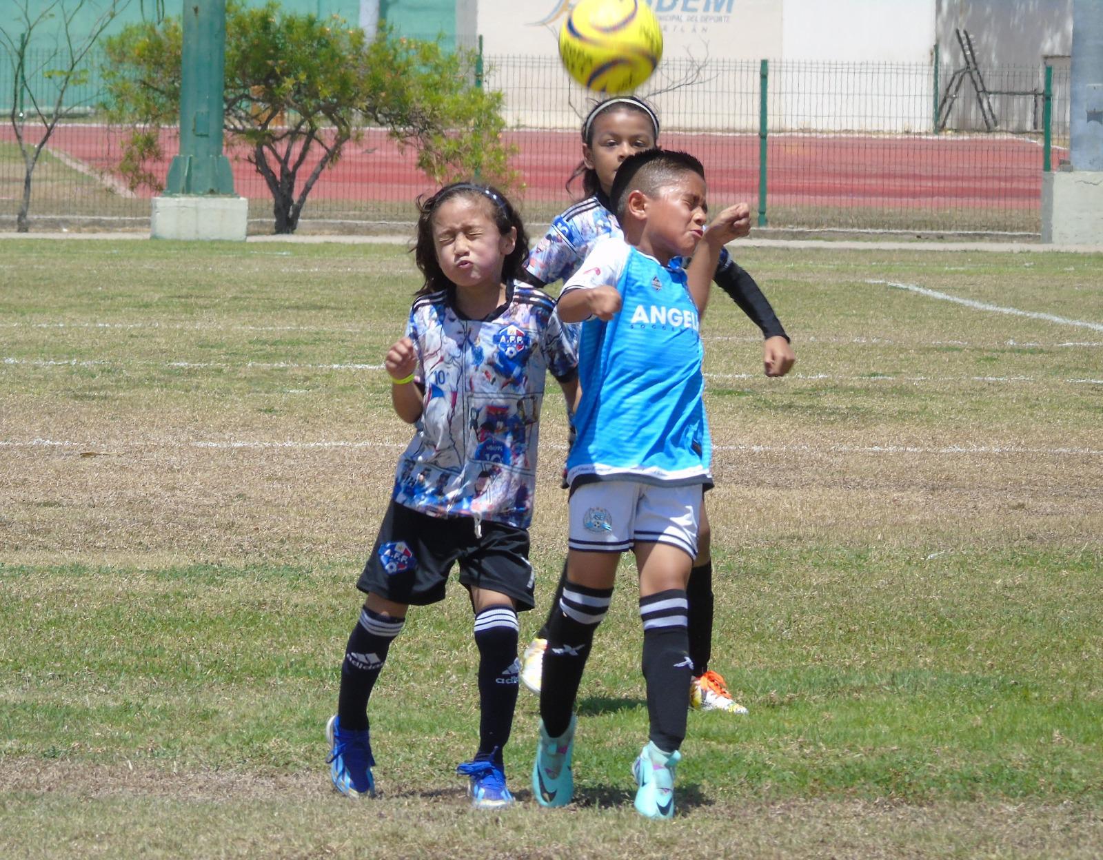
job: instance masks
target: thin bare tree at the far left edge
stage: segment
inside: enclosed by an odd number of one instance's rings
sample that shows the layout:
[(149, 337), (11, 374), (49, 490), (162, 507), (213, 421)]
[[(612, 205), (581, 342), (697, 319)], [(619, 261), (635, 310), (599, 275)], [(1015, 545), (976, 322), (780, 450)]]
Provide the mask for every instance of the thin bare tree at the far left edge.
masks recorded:
[[(23, 198), (19, 205), (15, 229), (26, 233), (30, 227), (28, 213), (31, 208), (31, 180), (39, 158), (57, 123), (82, 107), (81, 104), (71, 101), (68, 96), (74, 86), (88, 80), (89, 71), (85, 65), (85, 57), (115, 17), (130, 4), (130, 0), (105, 0), (103, 11), (88, 24), (84, 23), (88, 15), (81, 14), (88, 6), (88, 0), (53, 0), (38, 14), (31, 9), (32, 0), (9, 2), (14, 7), (14, 14), (6, 15), (7, 21), (0, 23), (0, 45), (8, 49), (6, 53), (12, 66), (9, 120), (23, 157)], [(30, 45), (35, 30), (45, 30), (55, 19), (58, 32), (51, 40), (52, 47), (43, 49), (41, 54), (32, 53)], [(78, 23), (81, 32), (76, 30)], [(51, 82), (54, 87), (52, 97), (46, 98), (36, 86), (26, 86), (28, 78), (35, 83)], [(24, 104), (26, 110), (21, 108)], [(28, 118), (35, 127), (42, 126), (42, 137), (36, 142), (33, 140), (34, 135), (25, 127)]]

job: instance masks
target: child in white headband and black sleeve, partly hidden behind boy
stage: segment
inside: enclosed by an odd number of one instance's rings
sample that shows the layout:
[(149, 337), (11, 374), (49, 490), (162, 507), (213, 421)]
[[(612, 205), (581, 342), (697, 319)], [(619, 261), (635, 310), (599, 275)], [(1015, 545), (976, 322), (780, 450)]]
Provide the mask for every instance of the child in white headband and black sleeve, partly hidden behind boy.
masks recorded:
[[(633, 152), (657, 146), (658, 117), (646, 101), (634, 96), (599, 101), (582, 122), (582, 162), (570, 182), (581, 176), (587, 198), (559, 215), (537, 244), (525, 264), (523, 276), (529, 283), (545, 286), (566, 281), (574, 275), (604, 236), (620, 236), (617, 216), (610, 211), (609, 192), (621, 162)], [(742, 311), (761, 329), (763, 366), (767, 376), (784, 376), (793, 366), (794, 356), (785, 330), (778, 321), (754, 279), (721, 251), (713, 280), (730, 295)], [(697, 558), (689, 574), (689, 655), (695, 675), (690, 681), (690, 706), (700, 710), (746, 713), (728, 692), (724, 677), (709, 669), (713, 643), (713, 558), (708, 517), (702, 509)], [(565, 574), (564, 574), (565, 576)], [(540, 689), (547, 627), (552, 615), (559, 611), (564, 579), (560, 577), (548, 611), (548, 620), (524, 651), (521, 680), (534, 692)]]

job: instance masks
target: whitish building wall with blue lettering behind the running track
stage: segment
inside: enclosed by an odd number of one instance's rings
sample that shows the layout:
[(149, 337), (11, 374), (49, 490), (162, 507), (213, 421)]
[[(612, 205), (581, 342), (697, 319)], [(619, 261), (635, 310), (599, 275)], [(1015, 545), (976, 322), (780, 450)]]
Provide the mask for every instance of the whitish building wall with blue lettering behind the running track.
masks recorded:
[[(773, 130), (931, 131), (933, 47), (938, 41), (944, 87), (955, 25), (999, 46), (978, 52), (982, 63), (1040, 63), (1071, 40), (1072, 0), (649, 2), (663, 28), (664, 63), (639, 94), (656, 100), (672, 128), (757, 129), (758, 63), (767, 58)], [(458, 8), (470, 3), (484, 54), (510, 57), (501, 64), (507, 79), (492, 74), (491, 82), (505, 92), (511, 120), (576, 125), (589, 94), (547, 95), (566, 78), (557, 40), (571, 0), (458, 0)], [(700, 79), (676, 89), (694, 63), (704, 63)]]

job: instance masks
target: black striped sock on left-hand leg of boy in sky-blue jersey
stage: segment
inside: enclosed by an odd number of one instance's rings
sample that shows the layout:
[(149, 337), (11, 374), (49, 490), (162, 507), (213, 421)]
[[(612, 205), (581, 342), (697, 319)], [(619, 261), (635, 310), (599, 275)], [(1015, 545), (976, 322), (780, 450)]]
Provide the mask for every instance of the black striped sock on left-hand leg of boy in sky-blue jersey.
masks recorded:
[(540, 719), (552, 738), (558, 738), (570, 725), (593, 634), (612, 596), (612, 589), (590, 589), (571, 582), (564, 585), (559, 611), (548, 625), (540, 684)]

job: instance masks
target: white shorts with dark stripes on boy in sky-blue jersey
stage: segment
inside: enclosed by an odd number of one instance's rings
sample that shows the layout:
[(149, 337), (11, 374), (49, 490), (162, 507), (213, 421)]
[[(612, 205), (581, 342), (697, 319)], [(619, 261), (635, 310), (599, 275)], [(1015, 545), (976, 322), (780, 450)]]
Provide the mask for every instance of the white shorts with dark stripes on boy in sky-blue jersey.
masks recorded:
[(670, 544), (697, 556), (704, 486), (596, 481), (570, 496), (568, 546), (624, 552), (636, 544)]

